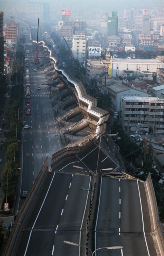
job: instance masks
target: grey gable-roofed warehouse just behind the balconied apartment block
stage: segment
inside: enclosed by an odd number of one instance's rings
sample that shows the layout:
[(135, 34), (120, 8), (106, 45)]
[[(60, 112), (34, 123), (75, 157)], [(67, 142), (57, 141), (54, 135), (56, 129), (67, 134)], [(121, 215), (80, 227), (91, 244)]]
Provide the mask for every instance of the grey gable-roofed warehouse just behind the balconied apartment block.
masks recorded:
[(138, 88), (131, 87), (125, 83), (117, 83), (110, 86), (107, 86), (107, 93), (111, 97), (112, 108), (115, 111), (120, 111), (121, 108), (121, 97), (122, 96), (140, 96), (147, 97), (147, 93), (141, 91)]

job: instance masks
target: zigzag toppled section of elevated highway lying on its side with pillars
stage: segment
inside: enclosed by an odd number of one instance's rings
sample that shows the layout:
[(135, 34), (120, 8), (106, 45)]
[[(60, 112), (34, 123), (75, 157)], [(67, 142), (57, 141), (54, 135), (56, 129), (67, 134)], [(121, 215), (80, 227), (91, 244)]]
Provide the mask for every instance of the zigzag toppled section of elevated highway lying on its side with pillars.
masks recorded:
[[(35, 40), (33, 42), (36, 43)], [(102, 135), (106, 130), (106, 121), (109, 117), (109, 113), (103, 109), (97, 107), (97, 99), (88, 95), (83, 83), (75, 77), (65, 68), (61, 68), (59, 64), (59, 58), (53, 53), (53, 48), (44, 41), (38, 42), (39, 46), (44, 47), (44, 51), (49, 55), (51, 65), (45, 69), (45, 71), (52, 72), (52, 84), (55, 91), (60, 92), (60, 100), (69, 96), (68, 100), (63, 105), (62, 109), (66, 110), (68, 107), (76, 103), (76, 107), (69, 110), (62, 116), (58, 117), (58, 120), (69, 120), (79, 114), (82, 115), (82, 120), (62, 128), (62, 132), (68, 134), (76, 134), (77, 132), (89, 127), (95, 135)], [(93, 138), (93, 137), (92, 137)]]

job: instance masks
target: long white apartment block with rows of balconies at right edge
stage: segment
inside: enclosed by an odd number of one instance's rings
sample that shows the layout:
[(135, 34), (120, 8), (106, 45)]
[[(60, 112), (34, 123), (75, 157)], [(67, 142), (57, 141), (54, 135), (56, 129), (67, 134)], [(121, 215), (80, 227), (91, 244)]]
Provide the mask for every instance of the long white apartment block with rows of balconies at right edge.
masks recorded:
[(126, 131), (164, 132), (164, 100), (147, 97), (121, 98), (121, 123)]

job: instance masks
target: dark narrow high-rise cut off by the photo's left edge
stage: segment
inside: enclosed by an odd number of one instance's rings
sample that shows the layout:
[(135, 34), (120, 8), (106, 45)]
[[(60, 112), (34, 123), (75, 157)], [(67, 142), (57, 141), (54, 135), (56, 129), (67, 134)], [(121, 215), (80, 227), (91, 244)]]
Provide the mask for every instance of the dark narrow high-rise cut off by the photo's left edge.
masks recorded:
[(3, 63), (4, 63), (3, 12), (0, 11), (0, 74), (3, 74)]

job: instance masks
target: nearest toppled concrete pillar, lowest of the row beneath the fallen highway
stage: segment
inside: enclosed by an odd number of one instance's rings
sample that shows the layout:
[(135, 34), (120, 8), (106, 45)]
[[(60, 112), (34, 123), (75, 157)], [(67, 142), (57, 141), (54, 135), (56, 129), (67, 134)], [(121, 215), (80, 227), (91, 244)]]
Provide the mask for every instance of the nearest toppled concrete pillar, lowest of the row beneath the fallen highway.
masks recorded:
[(76, 134), (77, 132), (85, 129), (86, 127), (88, 127), (88, 122), (86, 119), (82, 119), (77, 123), (74, 123), (68, 127), (63, 127), (60, 130), (60, 133), (68, 133), (68, 134)]

